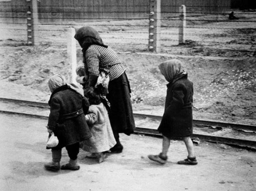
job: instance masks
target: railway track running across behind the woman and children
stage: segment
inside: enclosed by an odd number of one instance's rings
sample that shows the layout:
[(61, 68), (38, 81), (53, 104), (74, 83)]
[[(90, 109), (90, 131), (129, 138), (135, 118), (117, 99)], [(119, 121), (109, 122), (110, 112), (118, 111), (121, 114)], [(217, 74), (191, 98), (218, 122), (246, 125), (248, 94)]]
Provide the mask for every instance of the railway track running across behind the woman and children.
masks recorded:
[[(18, 104), (18, 105), (17, 105)], [(48, 119), (49, 105), (19, 99), (0, 98), (0, 112)], [(135, 133), (161, 136), (156, 129), (162, 116), (134, 112)], [(194, 119), (192, 139), (256, 149), (256, 125)]]

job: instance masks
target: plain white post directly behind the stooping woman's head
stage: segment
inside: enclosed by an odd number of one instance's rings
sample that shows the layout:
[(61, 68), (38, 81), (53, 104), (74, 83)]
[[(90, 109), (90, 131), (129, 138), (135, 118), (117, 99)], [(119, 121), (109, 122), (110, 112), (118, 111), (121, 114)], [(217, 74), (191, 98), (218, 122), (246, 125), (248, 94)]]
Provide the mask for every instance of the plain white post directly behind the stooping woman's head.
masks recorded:
[(69, 27), (67, 31), (67, 60), (72, 65), (71, 82), (76, 83), (76, 40), (74, 38), (75, 28)]

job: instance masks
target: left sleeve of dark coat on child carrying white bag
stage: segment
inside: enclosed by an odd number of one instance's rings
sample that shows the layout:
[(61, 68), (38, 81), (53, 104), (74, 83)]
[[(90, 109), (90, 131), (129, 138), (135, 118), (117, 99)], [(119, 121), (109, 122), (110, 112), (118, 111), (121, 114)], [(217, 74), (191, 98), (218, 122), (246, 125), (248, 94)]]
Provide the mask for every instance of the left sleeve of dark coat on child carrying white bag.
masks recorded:
[(53, 97), (50, 101), (50, 114), (48, 119), (48, 128), (51, 130), (55, 129), (57, 121), (60, 115), (60, 103), (59, 101)]

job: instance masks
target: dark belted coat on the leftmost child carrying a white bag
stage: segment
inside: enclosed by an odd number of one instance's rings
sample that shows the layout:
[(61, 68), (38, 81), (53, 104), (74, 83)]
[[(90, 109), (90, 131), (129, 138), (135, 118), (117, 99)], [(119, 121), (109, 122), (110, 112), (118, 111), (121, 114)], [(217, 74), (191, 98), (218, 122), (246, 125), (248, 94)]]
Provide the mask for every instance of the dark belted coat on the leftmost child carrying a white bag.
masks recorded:
[(52, 92), (49, 105), (48, 126), (59, 139), (58, 148), (80, 142), (91, 136), (84, 117), (89, 102), (84, 96), (65, 84)]

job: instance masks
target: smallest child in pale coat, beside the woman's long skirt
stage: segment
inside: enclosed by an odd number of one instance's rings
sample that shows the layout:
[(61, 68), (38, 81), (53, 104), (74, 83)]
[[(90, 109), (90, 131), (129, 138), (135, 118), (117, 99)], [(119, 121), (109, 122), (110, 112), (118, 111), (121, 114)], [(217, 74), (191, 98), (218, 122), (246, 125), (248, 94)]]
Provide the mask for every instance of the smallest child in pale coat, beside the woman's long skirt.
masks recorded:
[(104, 160), (104, 151), (108, 151), (116, 144), (110, 121), (108, 118), (107, 106), (101, 101), (100, 95), (92, 87), (85, 90), (90, 107), (85, 115), (92, 137), (81, 142), (83, 150), (91, 152), (87, 157), (97, 158), (98, 162)]

